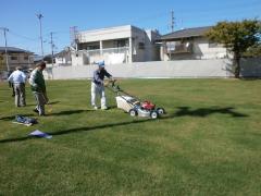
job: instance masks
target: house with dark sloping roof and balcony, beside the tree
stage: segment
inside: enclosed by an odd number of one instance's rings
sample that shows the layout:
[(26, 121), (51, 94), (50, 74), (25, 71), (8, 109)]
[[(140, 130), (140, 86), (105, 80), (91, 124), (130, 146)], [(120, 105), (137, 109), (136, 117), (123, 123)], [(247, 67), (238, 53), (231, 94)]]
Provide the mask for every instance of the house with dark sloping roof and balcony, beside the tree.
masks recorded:
[(222, 59), (227, 57), (226, 49), (210, 41), (206, 33), (211, 27), (187, 28), (161, 36), (161, 60)]

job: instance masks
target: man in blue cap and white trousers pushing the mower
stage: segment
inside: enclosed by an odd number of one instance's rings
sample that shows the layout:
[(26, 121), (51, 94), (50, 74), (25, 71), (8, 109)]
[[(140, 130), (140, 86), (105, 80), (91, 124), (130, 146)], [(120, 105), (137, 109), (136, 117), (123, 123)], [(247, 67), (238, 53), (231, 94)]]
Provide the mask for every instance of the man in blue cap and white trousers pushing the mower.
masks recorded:
[(104, 76), (110, 79), (113, 79), (112, 75), (107, 72), (104, 69), (104, 61), (98, 63), (98, 69), (94, 72), (94, 77), (91, 79), (91, 106), (95, 110), (98, 109), (96, 105), (96, 96), (97, 94), (100, 96), (101, 99), (101, 109), (107, 110), (107, 102), (105, 102), (105, 91), (104, 91)]

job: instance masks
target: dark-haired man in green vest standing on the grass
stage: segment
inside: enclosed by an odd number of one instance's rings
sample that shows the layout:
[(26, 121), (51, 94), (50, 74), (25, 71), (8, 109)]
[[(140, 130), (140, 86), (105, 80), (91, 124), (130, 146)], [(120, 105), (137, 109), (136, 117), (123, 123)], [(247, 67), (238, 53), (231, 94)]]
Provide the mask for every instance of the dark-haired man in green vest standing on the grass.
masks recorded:
[(30, 88), (37, 105), (34, 111), (37, 112), (39, 115), (46, 114), (45, 105), (47, 105), (49, 101), (47, 97), (47, 91), (46, 91), (45, 77), (42, 75), (42, 71), (45, 69), (46, 69), (46, 63), (40, 62), (39, 64), (37, 64), (36, 69), (32, 72), (29, 77)]

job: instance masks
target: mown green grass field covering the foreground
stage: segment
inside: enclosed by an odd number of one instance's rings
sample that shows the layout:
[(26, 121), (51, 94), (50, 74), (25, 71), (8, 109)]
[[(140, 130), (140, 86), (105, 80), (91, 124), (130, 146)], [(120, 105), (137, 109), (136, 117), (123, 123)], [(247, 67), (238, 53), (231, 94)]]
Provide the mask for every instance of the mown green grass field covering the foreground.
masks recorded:
[(261, 195), (260, 79), (120, 84), (167, 114), (130, 118), (109, 91), (111, 109), (94, 111), (89, 81), (53, 81), (48, 115), (27, 127), (12, 120), (35, 117), (28, 86), (14, 108), (0, 83), (0, 195)]

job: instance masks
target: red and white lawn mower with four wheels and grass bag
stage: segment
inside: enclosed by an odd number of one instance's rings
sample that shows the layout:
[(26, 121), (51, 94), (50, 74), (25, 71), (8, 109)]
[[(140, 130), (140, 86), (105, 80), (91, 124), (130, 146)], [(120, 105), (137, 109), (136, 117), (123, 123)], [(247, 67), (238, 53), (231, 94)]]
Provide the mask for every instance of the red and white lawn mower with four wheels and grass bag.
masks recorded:
[(151, 119), (158, 119), (160, 115), (165, 113), (163, 108), (157, 108), (152, 102), (145, 100), (141, 101), (139, 98), (129, 95), (115, 85), (115, 81), (112, 81), (105, 87), (113, 91), (116, 96), (117, 108), (128, 112), (130, 117), (145, 117)]

